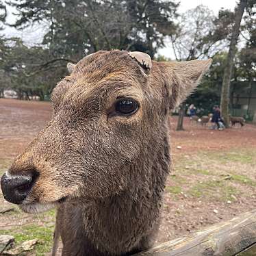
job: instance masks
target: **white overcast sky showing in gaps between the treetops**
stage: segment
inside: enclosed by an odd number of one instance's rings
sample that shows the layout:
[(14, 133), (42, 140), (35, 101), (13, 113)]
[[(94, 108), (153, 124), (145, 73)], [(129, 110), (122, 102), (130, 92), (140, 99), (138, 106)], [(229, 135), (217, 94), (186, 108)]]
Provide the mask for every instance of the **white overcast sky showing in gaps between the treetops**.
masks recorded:
[[(206, 5), (210, 10), (218, 15), (218, 10), (220, 8), (234, 10), (236, 1), (235, 0), (180, 0), (179, 13), (185, 12), (186, 10), (195, 8), (197, 5)], [(8, 22), (13, 23), (15, 21), (15, 16), (12, 15), (14, 9), (8, 8)], [(40, 27), (34, 27), (31, 29), (26, 29), (25, 31), (16, 31), (14, 28), (6, 27), (3, 31), (6, 36), (19, 36), (25, 40), (28, 44), (36, 44), (42, 40), (42, 34), (44, 31), (44, 25)], [(173, 53), (171, 47), (166, 42), (166, 47), (159, 50), (159, 54), (166, 57), (173, 58)]]

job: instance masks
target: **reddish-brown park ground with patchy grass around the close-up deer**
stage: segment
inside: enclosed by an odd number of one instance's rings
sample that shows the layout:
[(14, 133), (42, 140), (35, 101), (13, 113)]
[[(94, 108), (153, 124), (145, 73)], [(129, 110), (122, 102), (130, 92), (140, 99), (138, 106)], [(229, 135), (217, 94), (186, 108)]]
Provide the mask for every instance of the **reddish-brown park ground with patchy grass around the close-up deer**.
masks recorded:
[[(50, 103), (0, 99), (0, 175), (50, 118)], [(171, 117), (173, 164), (156, 243), (256, 206), (256, 126), (214, 131), (185, 118), (185, 131), (175, 131), (176, 123), (177, 118)], [(51, 251), (54, 220), (54, 210), (36, 216), (24, 214), (4, 201), (0, 192), (0, 235), (14, 235), (16, 244), (38, 240), (25, 255)]]

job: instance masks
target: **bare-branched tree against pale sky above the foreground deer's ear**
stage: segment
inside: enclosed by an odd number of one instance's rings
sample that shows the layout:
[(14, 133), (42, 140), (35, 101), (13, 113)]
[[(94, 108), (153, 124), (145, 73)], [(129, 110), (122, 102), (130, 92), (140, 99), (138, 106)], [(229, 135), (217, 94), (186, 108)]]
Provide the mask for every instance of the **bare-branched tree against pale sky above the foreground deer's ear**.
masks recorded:
[[(215, 17), (213, 12), (203, 5), (185, 12), (179, 18), (179, 29), (170, 36), (176, 60), (212, 57), (224, 48), (225, 40), (229, 34), (228, 27), (232, 23), (231, 16), (227, 10), (221, 10), (219, 16)], [(226, 29), (221, 29), (223, 21), (227, 26)], [(177, 131), (183, 130), (185, 104), (181, 104), (179, 108)]]

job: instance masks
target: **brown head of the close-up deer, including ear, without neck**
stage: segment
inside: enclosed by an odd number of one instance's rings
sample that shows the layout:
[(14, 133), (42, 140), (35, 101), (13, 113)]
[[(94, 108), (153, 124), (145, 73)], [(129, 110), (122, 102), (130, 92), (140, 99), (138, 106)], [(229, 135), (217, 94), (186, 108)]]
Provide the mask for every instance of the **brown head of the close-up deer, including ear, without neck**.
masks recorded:
[(51, 121), (1, 178), (5, 199), (33, 213), (126, 190), (131, 164), (209, 64), (151, 62), (126, 51), (68, 64), (71, 75), (53, 90)]

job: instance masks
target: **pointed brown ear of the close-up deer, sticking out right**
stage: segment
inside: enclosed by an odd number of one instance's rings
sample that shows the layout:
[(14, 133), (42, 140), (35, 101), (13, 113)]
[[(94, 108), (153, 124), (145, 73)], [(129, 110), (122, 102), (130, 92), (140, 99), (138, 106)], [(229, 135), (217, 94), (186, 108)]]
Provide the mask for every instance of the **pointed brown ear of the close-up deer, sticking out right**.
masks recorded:
[(158, 62), (164, 83), (170, 94), (170, 109), (182, 103), (196, 88), (203, 74), (212, 64), (209, 60), (190, 60), (188, 62)]

